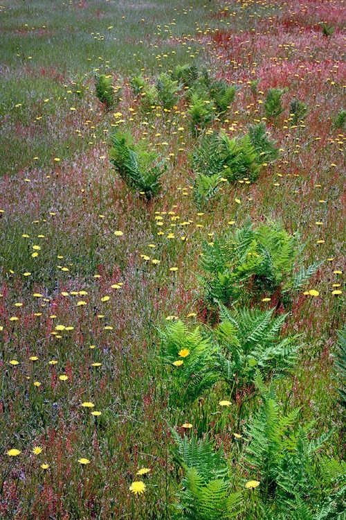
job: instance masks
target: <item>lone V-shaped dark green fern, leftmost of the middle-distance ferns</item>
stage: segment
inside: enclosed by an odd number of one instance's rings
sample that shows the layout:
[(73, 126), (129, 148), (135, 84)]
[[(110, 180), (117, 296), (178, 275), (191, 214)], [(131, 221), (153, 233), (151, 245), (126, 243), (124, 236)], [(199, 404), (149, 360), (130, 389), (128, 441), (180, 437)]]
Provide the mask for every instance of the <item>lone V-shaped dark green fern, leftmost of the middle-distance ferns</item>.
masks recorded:
[(146, 149), (145, 141), (134, 144), (129, 133), (116, 131), (111, 137), (110, 161), (129, 187), (144, 195), (147, 200), (160, 189), (160, 177), (166, 171), (165, 160)]

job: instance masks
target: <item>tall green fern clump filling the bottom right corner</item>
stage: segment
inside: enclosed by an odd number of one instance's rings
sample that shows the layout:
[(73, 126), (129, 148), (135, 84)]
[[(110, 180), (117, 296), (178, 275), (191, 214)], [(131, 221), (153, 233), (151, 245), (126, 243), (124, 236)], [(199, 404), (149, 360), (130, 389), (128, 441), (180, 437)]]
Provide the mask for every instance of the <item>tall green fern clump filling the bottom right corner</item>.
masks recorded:
[(260, 480), (264, 517), (341, 518), (338, 512), (345, 511), (346, 465), (318, 453), (330, 433), (311, 441), (311, 425), (302, 428), (296, 420), (299, 410), (281, 415), (272, 388), (264, 390), (262, 399), (248, 426), (244, 461)]

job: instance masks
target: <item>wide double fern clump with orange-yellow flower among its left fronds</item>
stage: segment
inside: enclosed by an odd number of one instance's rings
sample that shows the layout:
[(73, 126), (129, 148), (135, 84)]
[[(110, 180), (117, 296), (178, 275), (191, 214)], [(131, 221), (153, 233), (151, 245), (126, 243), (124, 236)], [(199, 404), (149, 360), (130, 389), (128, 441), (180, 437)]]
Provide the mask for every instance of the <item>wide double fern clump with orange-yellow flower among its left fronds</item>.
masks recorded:
[(280, 337), (286, 316), (273, 318), (273, 311), (231, 312), (220, 305), (222, 322), (212, 333), (190, 331), (181, 321), (161, 330), (171, 403), (194, 401), (221, 381), (234, 397), (237, 388), (253, 386), (258, 371), (267, 381), (291, 370), (298, 345), (293, 337)]

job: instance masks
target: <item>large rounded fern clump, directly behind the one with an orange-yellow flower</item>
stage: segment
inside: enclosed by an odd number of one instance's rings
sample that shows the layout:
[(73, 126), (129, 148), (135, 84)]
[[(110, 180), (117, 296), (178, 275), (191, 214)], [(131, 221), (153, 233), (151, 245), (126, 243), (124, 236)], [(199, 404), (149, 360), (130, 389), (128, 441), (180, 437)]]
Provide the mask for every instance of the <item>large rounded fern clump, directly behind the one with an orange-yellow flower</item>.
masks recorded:
[(226, 306), (236, 302), (246, 305), (256, 294), (273, 295), (279, 289), (287, 300), (320, 266), (314, 263), (294, 274), (300, 250), (298, 238), (289, 235), (280, 223), (255, 229), (248, 220), (236, 232), (214, 236), (212, 246), (204, 245), (199, 261), (206, 272), (199, 277), (206, 300), (210, 304), (219, 300)]

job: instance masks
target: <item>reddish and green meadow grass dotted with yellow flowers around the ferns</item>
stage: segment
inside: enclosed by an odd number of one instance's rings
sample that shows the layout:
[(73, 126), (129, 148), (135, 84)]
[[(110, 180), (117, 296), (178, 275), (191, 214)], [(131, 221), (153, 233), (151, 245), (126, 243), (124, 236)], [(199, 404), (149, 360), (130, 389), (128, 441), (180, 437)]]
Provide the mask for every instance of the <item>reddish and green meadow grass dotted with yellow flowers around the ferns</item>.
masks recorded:
[[(0, 8), (3, 519), (183, 518), (174, 513), (183, 470), (170, 428), (224, 444), (233, 487), (243, 492), (237, 518), (264, 518), (261, 485), (245, 487), (260, 481), (244, 459), (258, 392), (239, 388), (233, 399), (219, 382), (172, 406), (176, 369), (163, 364), (158, 333), (176, 318), (212, 327), (199, 279), (203, 244), (248, 216), (297, 234), (305, 266), (323, 261), (293, 296), (282, 335), (300, 334), (298, 363), (275, 390), (284, 413), (300, 408), (311, 437), (330, 433), (323, 454), (345, 457), (334, 376), (336, 330), (345, 323), (346, 130), (334, 125), (345, 108), (345, 6), (181, 4), (13, 0)], [(170, 111), (145, 113), (130, 86), (140, 72), (154, 85), (183, 64), (239, 87), (210, 130), (242, 136), (264, 121), (279, 150), (255, 182), (223, 182), (204, 211), (194, 205), (199, 140), (187, 94)], [(111, 111), (95, 96), (97, 73), (122, 87)], [(267, 119), (268, 89), (284, 87), (282, 114)], [(307, 107), (295, 124), (294, 99)], [(114, 129), (167, 157), (161, 192), (149, 202), (111, 167)], [(150, 471), (136, 476), (142, 467)], [(145, 482), (143, 495), (129, 490), (135, 480)]]

